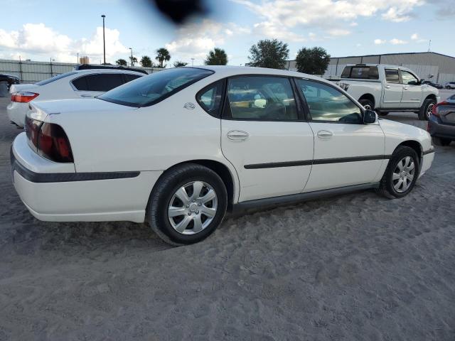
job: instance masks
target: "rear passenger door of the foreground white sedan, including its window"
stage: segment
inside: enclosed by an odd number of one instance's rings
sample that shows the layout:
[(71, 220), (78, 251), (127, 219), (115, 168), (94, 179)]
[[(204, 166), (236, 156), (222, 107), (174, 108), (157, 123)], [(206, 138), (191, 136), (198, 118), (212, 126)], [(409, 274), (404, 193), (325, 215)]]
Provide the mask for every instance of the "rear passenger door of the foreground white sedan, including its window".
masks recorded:
[(301, 193), (311, 171), (313, 132), (289, 77), (227, 80), (221, 147), (240, 180), (239, 202)]

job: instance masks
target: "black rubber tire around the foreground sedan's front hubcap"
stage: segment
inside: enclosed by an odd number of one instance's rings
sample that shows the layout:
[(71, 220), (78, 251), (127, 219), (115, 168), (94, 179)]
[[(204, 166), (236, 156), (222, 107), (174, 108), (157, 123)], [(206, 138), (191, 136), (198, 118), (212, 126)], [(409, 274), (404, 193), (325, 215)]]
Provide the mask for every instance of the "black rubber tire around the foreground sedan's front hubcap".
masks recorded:
[[(398, 192), (393, 186), (393, 172), (395, 171), (395, 168), (397, 168), (398, 163), (407, 156), (410, 156), (412, 158), (412, 161), (414, 161), (414, 178), (412, 179), (412, 182), (410, 183), (410, 186), (407, 188), (407, 190)], [(376, 189), (376, 193), (388, 197), (389, 199), (404, 197), (411, 192), (412, 188), (414, 188), (417, 178), (419, 178), (419, 172), (419, 157), (417, 156), (417, 153), (414, 151), (414, 149), (407, 146), (398, 146), (397, 149), (395, 149), (393, 152), (392, 158), (389, 160), (389, 164), (385, 169), (384, 175), (382, 175), (382, 179), (380, 180), (379, 188)]]

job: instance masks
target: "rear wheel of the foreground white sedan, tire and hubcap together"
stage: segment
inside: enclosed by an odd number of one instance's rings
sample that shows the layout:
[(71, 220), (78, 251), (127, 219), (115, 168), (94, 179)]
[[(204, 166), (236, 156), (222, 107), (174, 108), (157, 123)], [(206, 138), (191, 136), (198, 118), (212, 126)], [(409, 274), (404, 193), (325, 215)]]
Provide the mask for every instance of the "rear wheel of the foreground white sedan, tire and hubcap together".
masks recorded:
[(147, 222), (165, 242), (193, 244), (212, 234), (223, 221), (228, 194), (220, 176), (188, 163), (161, 176), (151, 193)]

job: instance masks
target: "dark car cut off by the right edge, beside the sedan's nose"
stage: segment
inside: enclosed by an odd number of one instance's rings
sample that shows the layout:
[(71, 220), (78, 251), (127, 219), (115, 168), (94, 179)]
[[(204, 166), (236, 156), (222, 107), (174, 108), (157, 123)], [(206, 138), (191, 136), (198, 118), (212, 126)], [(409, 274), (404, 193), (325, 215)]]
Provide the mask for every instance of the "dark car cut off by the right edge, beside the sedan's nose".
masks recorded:
[(455, 94), (433, 107), (428, 131), (438, 146), (449, 146), (455, 141)]

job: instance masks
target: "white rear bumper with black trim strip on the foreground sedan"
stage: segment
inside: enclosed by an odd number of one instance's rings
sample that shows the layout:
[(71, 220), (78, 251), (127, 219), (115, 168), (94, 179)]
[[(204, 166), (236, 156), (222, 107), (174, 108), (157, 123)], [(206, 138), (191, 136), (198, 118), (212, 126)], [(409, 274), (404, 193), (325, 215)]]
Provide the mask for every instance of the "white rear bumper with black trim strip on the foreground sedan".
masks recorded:
[[(54, 163), (33, 153), (24, 137), (19, 134), (11, 147), (11, 175), (19, 197), (38, 220), (144, 222), (160, 171), (75, 173), (72, 163)], [(95, 180), (86, 180), (87, 174)]]

